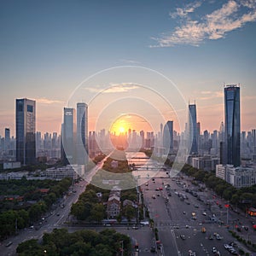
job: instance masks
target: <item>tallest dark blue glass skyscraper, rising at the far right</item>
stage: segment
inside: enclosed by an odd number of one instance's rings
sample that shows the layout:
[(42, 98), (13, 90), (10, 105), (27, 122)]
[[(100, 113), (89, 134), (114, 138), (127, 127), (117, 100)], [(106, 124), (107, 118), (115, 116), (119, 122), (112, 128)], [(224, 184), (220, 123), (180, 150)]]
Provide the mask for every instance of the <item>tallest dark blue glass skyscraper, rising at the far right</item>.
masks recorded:
[(227, 164), (240, 166), (240, 87), (224, 87), (224, 116)]

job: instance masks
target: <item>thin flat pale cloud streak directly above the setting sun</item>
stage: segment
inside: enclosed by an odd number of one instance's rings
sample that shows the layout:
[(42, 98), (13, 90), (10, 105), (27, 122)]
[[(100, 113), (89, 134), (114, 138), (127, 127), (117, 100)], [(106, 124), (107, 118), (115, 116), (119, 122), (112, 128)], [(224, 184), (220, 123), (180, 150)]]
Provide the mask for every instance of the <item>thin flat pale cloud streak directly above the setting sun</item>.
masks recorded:
[(129, 90), (135, 90), (139, 88), (139, 84), (134, 83), (120, 83), (120, 84), (110, 84), (110, 87), (107, 89), (96, 87), (86, 87), (84, 90), (89, 90), (90, 92), (102, 92), (102, 93), (119, 93), (119, 92), (127, 92)]

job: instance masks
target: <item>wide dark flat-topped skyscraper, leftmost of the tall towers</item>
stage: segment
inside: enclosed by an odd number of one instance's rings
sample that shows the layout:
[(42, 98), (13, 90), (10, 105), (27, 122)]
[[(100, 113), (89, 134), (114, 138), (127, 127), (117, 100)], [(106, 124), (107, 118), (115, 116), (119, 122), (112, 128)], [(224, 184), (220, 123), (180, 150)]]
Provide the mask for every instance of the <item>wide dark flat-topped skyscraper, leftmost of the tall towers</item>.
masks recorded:
[(36, 162), (36, 102), (16, 99), (16, 160), (21, 165)]

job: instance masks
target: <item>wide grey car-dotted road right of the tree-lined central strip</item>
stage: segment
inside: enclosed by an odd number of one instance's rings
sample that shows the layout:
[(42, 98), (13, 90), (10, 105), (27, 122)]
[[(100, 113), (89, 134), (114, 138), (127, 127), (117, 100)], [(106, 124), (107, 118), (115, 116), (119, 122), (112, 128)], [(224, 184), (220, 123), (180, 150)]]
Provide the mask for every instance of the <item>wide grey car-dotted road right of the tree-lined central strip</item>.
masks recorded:
[[(170, 191), (165, 189), (167, 183), (170, 184)], [(213, 255), (212, 247), (216, 247), (221, 255), (231, 255), (224, 249), (224, 243), (234, 241), (234, 238), (225, 224), (219, 225), (209, 221), (214, 214), (212, 212), (214, 207), (207, 206), (206, 201), (198, 201), (195, 196), (185, 192), (185, 188), (189, 186), (194, 190), (198, 189), (193, 187), (189, 179), (184, 178), (180, 184), (177, 179), (167, 177), (166, 172), (159, 172), (154, 177), (154, 181), (152, 179), (148, 181), (148, 186), (145, 184), (142, 186), (151, 218), (154, 219), (154, 226), (159, 230), (160, 241), (163, 244), (163, 253), (161, 254), (189, 255), (189, 250), (192, 250), (196, 255)], [(163, 190), (156, 191), (158, 188)], [(169, 192), (172, 196), (168, 196)], [(181, 200), (181, 194), (187, 196), (188, 199)], [(200, 192), (198, 194), (200, 195)], [(152, 198), (153, 195), (155, 199)], [(204, 192), (202, 195), (206, 196), (206, 193)], [(167, 203), (166, 198), (168, 198)], [(207, 198), (212, 198), (211, 191), (207, 193)], [(195, 220), (192, 219), (192, 212), (195, 213)], [(227, 218), (226, 214), (227, 210), (222, 210), (219, 217), (224, 220)], [(216, 218), (218, 218), (217, 215)], [(237, 218), (236, 213), (229, 211), (230, 221), (233, 218)], [(240, 217), (240, 221), (246, 223), (249, 220)], [(202, 227), (206, 228), (206, 233), (201, 232)], [(245, 233), (245, 236), (247, 234), (253, 236), (251, 232), (253, 232), (251, 228), (248, 231), (241, 231), (241, 233)], [(221, 239), (217, 240), (214, 233), (218, 233)], [(212, 240), (209, 239), (209, 235), (212, 235)], [(245, 252), (249, 252), (242, 244), (236, 243)]]

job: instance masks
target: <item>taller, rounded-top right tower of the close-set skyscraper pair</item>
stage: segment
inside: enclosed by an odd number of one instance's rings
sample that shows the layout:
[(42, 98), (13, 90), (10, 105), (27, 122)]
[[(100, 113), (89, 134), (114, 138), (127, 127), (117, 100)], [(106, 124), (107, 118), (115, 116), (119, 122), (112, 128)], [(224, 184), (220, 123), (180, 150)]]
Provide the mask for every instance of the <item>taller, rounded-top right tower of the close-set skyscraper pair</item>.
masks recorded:
[(88, 106), (77, 103), (77, 163), (88, 164)]

